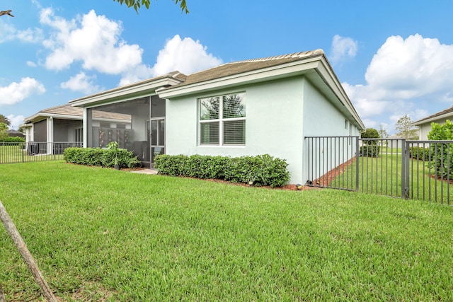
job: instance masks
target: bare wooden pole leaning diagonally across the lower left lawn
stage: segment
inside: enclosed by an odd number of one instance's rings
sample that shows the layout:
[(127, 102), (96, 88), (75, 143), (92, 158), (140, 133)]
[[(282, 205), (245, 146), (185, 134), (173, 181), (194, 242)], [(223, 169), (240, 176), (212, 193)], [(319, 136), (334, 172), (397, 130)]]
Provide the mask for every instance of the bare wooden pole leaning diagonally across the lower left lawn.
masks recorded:
[[(30, 251), (28, 250), (27, 245), (25, 244), (25, 241), (23, 241), (21, 234), (17, 231), (17, 228), (14, 225), (13, 220), (8, 215), (8, 212), (6, 211), (1, 200), (0, 200), (0, 219), (1, 219), (1, 222), (3, 222), (9, 236), (11, 237), (14, 244), (16, 245), (16, 248), (21, 253), (23, 261), (25, 261), (25, 264), (27, 265), (28, 269), (30, 269), (31, 274), (33, 274), (33, 278), (35, 279), (35, 282), (38, 284), (38, 286), (40, 286), (40, 289), (42, 291), (42, 295), (44, 296), (44, 298), (49, 302), (57, 302), (57, 299), (55, 298), (54, 294), (52, 294), (50, 287), (47, 285), (47, 282), (45, 281), (44, 277), (42, 276), (40, 269), (38, 268), (38, 265), (36, 264), (35, 260), (33, 259), (33, 255), (31, 255)], [(0, 286), (0, 289), (1, 289), (1, 286)], [(6, 299), (4, 298), (3, 290), (0, 290), (0, 302), (1, 301), (6, 301)]]

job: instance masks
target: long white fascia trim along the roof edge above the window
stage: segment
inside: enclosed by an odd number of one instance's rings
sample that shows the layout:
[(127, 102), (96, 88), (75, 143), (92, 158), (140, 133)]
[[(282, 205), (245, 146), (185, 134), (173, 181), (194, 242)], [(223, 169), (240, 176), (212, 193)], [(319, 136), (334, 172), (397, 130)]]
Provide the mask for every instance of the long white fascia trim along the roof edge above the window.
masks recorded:
[(304, 61), (289, 62), (287, 64), (270, 66), (264, 69), (256, 69), (242, 74), (234, 74), (219, 79), (193, 83), (187, 86), (166, 88), (164, 91), (158, 91), (160, 98), (176, 98), (183, 95), (199, 93), (200, 91), (210, 91), (229, 86), (237, 86), (260, 81), (269, 81), (270, 79), (279, 79), (283, 77), (296, 76), (304, 74), (310, 69), (316, 69), (319, 66), (320, 56), (311, 57)]

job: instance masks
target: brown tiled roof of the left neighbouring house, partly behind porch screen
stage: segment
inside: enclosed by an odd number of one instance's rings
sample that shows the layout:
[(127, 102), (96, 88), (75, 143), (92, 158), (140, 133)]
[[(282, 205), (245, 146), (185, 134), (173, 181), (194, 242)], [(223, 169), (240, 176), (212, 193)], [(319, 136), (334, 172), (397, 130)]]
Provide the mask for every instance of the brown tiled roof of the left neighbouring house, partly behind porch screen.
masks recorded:
[[(57, 117), (65, 120), (82, 120), (84, 117), (84, 108), (74, 107), (69, 104), (59, 105), (41, 110), (30, 117), (25, 117), (25, 122), (38, 122), (45, 117)], [(105, 112), (93, 110), (93, 118), (98, 120), (123, 120), (130, 122), (130, 115), (115, 112)]]

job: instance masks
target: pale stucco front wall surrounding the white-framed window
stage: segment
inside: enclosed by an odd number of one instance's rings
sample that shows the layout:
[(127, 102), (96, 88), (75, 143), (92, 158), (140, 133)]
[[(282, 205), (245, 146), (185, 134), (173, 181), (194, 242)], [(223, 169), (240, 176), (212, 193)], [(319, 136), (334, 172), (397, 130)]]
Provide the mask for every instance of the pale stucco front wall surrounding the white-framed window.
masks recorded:
[[(268, 153), (289, 163), (291, 182), (301, 179), (303, 78), (244, 86), (234, 90), (167, 100), (166, 153), (255, 156)], [(197, 98), (245, 93), (245, 146), (199, 146)]]

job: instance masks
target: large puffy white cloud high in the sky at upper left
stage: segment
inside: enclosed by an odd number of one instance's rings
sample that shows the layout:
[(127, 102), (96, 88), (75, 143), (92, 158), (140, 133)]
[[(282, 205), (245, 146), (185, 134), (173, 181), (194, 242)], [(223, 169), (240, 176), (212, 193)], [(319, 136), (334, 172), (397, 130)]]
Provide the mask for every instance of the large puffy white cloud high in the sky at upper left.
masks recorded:
[(143, 50), (120, 40), (121, 23), (98, 16), (91, 10), (76, 20), (55, 16), (51, 8), (42, 9), (40, 22), (55, 29), (43, 42), (51, 53), (45, 59), (47, 69), (69, 68), (81, 62), (87, 70), (122, 74), (142, 64)]

